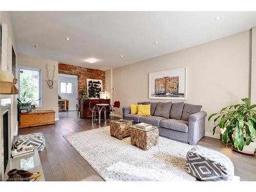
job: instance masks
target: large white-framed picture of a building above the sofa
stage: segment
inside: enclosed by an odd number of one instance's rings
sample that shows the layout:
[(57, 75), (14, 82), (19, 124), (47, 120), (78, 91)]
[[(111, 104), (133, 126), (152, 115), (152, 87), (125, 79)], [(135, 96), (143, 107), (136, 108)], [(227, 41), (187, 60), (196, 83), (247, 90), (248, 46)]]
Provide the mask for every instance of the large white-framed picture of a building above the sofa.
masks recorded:
[(150, 73), (150, 99), (186, 99), (187, 68)]

